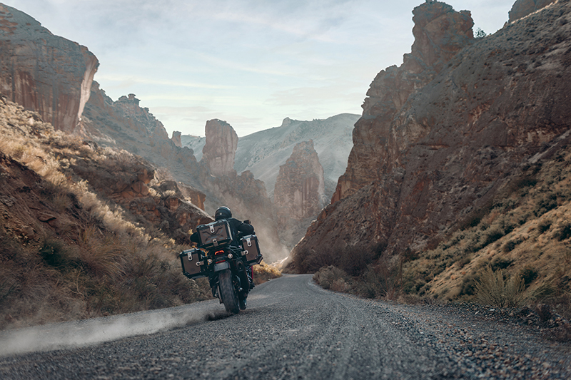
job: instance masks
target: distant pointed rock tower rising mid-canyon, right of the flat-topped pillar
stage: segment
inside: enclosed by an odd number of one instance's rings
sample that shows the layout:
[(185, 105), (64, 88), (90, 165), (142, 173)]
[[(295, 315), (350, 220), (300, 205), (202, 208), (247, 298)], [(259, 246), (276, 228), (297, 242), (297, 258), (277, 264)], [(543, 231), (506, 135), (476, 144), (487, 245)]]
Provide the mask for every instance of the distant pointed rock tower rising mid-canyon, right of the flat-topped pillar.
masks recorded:
[(313, 141), (298, 143), (290, 158), (280, 166), (273, 192), (279, 222), (315, 217), (323, 208), (324, 198), (323, 167)]

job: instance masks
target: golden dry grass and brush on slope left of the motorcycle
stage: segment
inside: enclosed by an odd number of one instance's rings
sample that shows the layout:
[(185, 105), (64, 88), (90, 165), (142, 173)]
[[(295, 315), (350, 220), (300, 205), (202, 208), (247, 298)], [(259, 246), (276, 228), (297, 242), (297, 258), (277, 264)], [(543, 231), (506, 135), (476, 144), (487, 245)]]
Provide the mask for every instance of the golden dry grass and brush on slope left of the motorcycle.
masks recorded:
[(57, 227), (30, 226), (32, 240), (14, 235), (21, 221), (1, 220), (0, 329), (211, 297), (208, 282), (183, 277), (178, 252), (184, 247), (136, 226), (70, 169), (89, 159), (128, 171), (139, 163), (133, 155), (95, 149), (19, 106), (0, 108), (0, 151), (40, 176), (35, 196), (62, 220)]

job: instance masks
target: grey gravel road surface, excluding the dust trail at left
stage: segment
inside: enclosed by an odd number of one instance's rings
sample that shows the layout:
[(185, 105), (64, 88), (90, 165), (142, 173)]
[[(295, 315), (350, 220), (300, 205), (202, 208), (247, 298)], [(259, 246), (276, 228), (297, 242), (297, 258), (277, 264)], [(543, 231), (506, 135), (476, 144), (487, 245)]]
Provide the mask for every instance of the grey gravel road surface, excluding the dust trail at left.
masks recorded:
[[(168, 331), (0, 358), (0, 378), (507, 379), (505, 374), (523, 374), (525, 379), (566, 379), (569, 375), (568, 368), (545, 371), (547, 367), (502, 372), (502, 366), (509, 365), (503, 361), (512, 358), (510, 346), (502, 346), (500, 358), (494, 358), (493, 352), (477, 359), (466, 356), (475, 347), (466, 343), (482, 338), (471, 332), (477, 329), (473, 320), (427, 307), (325, 291), (311, 282), (310, 275), (286, 275), (256, 287), (248, 297), (248, 309), (237, 315), (213, 312), (223, 310), (217, 300), (177, 312), (198, 315), (197, 310), (205, 308), (211, 320)], [(163, 312), (173, 314), (171, 309)], [(498, 337), (512, 333), (509, 326), (502, 328), (505, 331)], [(523, 361), (519, 364), (525, 366)], [(529, 365), (537, 366), (537, 361)]]

